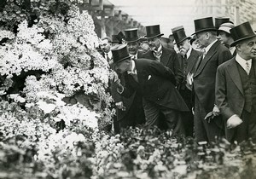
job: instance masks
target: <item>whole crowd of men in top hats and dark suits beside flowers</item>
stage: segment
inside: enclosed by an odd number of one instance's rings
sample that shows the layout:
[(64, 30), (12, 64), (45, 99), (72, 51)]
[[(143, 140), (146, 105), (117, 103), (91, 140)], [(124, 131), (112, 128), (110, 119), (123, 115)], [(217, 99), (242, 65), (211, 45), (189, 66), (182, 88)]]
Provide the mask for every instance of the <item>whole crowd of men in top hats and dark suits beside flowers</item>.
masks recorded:
[[(256, 34), (249, 22), (194, 20), (163, 38), (160, 26), (102, 38), (102, 55), (119, 78), (111, 82), (115, 132), (158, 126), (196, 141), (256, 142)], [(177, 49), (174, 49), (176, 45)]]

